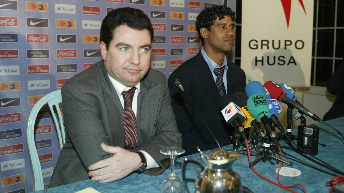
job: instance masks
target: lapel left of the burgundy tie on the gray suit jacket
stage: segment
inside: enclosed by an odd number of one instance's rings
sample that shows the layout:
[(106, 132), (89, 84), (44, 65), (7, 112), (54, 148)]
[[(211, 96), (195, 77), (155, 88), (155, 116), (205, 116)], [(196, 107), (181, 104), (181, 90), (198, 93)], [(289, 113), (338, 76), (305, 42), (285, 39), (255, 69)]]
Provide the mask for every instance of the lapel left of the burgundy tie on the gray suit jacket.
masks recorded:
[(117, 92), (112, 85), (104, 63), (99, 67), (99, 82), (103, 87), (104, 101), (107, 107), (107, 114), (110, 122), (110, 128), (105, 128), (106, 133), (110, 134), (111, 146), (125, 146), (125, 132), (123, 126), (123, 107), (117, 95)]

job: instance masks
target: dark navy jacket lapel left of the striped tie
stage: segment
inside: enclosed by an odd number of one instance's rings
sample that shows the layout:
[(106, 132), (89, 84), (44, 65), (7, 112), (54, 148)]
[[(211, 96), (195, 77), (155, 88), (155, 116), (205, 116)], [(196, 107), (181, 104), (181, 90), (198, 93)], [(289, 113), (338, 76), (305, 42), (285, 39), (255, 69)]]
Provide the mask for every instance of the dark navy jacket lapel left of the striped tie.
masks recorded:
[(200, 70), (201, 80), (204, 83), (205, 88), (209, 92), (211, 98), (217, 103), (220, 99), (220, 94), (216, 88), (216, 83), (214, 81), (212, 72), (209, 69), (207, 62), (204, 60), (201, 52), (196, 55), (197, 67)]

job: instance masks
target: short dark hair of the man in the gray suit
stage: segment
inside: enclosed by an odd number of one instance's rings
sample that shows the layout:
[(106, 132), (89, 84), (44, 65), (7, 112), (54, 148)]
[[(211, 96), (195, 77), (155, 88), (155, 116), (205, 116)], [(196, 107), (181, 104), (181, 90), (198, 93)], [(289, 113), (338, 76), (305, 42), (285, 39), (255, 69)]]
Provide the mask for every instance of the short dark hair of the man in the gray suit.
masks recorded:
[(153, 40), (152, 24), (142, 10), (130, 7), (118, 8), (110, 11), (104, 18), (103, 23), (101, 23), (99, 40), (106, 44), (107, 49), (112, 41), (116, 27), (120, 25), (127, 25), (135, 30), (147, 29), (151, 35), (151, 41)]

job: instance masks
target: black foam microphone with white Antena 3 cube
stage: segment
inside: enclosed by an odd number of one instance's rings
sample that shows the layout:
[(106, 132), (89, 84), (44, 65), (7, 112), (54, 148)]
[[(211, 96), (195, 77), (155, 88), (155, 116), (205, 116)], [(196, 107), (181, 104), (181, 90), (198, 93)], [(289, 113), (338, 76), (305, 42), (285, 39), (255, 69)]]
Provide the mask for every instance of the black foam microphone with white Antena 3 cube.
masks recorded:
[[(246, 133), (244, 130), (243, 121), (245, 121), (246, 117), (241, 111), (241, 108), (237, 106), (235, 103), (235, 98), (229, 94), (225, 94), (220, 98), (220, 109), (225, 121), (230, 125), (238, 128), (239, 133), (244, 139), (247, 139)], [(236, 101), (235, 101), (236, 102)]]

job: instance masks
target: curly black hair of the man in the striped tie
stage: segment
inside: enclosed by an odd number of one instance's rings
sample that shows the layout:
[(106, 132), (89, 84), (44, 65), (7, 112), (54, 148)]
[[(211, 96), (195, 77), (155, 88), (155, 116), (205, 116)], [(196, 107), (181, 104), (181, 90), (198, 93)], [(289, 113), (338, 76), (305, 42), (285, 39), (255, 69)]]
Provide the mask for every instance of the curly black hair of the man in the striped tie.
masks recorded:
[(231, 16), (233, 22), (235, 22), (235, 13), (229, 7), (225, 5), (214, 5), (213, 7), (205, 8), (197, 15), (196, 18), (196, 30), (198, 37), (204, 45), (204, 38), (201, 36), (201, 28), (204, 27), (210, 31), (210, 27), (214, 24), (214, 21), (217, 19), (222, 20), (225, 18), (225, 15)]

